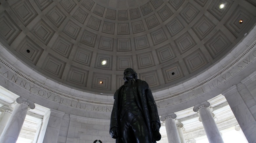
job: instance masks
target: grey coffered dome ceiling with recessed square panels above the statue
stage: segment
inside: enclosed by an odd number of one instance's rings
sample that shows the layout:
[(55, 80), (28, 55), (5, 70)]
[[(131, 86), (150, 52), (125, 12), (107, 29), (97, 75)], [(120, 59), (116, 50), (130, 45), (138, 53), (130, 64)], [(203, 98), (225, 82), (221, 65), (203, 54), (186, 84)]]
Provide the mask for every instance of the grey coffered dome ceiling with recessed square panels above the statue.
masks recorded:
[(0, 40), (36, 71), (71, 87), (114, 93), (123, 71), (133, 68), (156, 90), (227, 54), (255, 24), (255, 6), (255, 0), (7, 0), (0, 5)]

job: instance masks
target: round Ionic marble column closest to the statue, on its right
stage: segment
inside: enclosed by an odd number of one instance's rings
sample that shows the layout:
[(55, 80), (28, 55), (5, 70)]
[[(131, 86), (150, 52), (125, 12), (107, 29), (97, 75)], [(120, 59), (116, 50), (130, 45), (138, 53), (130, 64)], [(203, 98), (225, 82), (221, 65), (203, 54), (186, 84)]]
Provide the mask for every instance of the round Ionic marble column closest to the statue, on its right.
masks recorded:
[(165, 123), (165, 129), (167, 133), (167, 138), (169, 143), (181, 143), (179, 133), (176, 127), (175, 118), (177, 117), (176, 114), (167, 114), (166, 116), (162, 116), (160, 118), (161, 121)]

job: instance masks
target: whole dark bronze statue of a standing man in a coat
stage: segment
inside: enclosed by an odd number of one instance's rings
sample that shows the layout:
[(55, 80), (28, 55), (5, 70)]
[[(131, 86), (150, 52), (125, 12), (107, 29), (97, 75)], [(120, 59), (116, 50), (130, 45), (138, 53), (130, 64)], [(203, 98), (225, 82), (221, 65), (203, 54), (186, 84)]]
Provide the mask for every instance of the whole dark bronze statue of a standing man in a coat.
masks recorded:
[(133, 69), (123, 74), (125, 83), (114, 94), (110, 135), (116, 143), (156, 143), (161, 124), (152, 92)]

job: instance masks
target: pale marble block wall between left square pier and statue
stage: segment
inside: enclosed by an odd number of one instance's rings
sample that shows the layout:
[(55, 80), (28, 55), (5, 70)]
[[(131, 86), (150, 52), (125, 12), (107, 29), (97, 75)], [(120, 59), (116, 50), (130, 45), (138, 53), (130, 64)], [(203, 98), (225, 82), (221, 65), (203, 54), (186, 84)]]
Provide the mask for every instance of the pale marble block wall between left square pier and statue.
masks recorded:
[(65, 114), (61, 121), (58, 143), (115, 143), (109, 135), (109, 120), (90, 119)]

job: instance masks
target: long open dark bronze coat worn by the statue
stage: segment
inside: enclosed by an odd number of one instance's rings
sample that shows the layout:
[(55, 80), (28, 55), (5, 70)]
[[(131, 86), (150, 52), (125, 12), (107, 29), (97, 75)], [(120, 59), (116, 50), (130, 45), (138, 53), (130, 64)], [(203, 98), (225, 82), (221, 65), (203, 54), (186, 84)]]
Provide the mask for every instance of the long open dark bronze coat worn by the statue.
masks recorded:
[[(157, 106), (156, 106), (154, 97), (152, 95), (152, 92), (148, 84), (145, 81), (142, 81), (139, 79), (137, 80), (133, 79), (132, 86), (133, 86), (136, 103), (146, 119), (146, 124), (150, 132), (152, 143), (156, 143), (156, 141), (153, 140), (151, 122), (152, 121), (158, 122), (159, 127), (161, 126), (161, 124), (160, 124)], [(113, 106), (113, 110), (110, 118), (110, 129), (113, 127), (117, 127), (118, 129), (118, 118), (119, 118), (118, 115), (120, 112), (120, 104), (118, 103), (118, 100), (122, 96), (121, 92), (123, 87), (124, 85), (122, 85), (114, 94), (115, 101), (114, 101), (114, 106)], [(120, 134), (118, 133), (118, 135)], [(118, 143), (118, 138), (116, 139), (116, 143)]]

